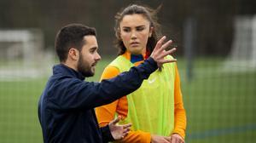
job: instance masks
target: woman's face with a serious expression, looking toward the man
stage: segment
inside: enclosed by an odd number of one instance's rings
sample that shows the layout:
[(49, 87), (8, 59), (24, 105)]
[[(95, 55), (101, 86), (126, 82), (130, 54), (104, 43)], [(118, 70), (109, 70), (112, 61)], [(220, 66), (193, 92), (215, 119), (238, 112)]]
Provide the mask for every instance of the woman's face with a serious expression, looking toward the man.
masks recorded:
[(120, 37), (131, 54), (145, 54), (153, 28), (143, 14), (127, 14), (120, 21)]

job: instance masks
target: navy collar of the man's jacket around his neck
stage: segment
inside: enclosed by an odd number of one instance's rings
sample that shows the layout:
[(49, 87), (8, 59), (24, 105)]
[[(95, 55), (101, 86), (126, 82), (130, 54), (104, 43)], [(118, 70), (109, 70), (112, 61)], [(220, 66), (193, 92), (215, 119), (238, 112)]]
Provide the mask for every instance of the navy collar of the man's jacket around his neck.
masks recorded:
[(61, 76), (68, 76), (68, 77), (76, 77), (79, 78), (81, 80), (84, 80), (84, 76), (80, 73), (77, 72), (75, 70), (73, 70), (72, 68), (65, 66), (64, 64), (58, 64), (53, 66), (53, 74), (54, 75), (61, 75)]

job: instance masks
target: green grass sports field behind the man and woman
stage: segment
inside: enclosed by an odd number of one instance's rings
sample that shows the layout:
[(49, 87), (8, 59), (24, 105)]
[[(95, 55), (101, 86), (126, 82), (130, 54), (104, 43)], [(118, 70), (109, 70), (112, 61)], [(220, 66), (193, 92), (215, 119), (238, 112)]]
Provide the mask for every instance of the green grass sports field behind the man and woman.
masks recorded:
[[(98, 81), (110, 60), (102, 60), (89, 80)], [(177, 61), (188, 116), (187, 142), (255, 142), (256, 71), (223, 72), (222, 59), (201, 58), (195, 60), (194, 76), (188, 80), (186, 63)], [(1, 143), (43, 142), (37, 108), (47, 78), (0, 79)]]

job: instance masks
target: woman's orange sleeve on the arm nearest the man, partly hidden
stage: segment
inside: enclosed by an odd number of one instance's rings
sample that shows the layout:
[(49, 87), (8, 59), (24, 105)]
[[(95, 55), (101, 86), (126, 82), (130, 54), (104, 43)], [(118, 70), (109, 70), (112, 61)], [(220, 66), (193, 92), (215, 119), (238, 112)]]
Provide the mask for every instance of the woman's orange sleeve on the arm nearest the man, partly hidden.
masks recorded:
[[(107, 66), (102, 73), (101, 79), (108, 79), (116, 77), (119, 74), (119, 70), (113, 66)], [(115, 100), (112, 103), (96, 107), (96, 117), (100, 127), (106, 126), (114, 118), (115, 113), (118, 113), (122, 117), (127, 117), (128, 105), (126, 96)], [(124, 139), (119, 140), (123, 143), (132, 143), (132, 142), (144, 142), (150, 143), (151, 135), (148, 132), (143, 132), (142, 130), (130, 131)]]

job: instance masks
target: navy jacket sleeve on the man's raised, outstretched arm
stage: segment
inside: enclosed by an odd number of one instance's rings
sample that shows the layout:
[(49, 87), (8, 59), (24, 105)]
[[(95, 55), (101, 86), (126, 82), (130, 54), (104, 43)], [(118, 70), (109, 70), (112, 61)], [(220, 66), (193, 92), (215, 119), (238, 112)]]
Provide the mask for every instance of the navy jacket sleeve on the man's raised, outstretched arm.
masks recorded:
[(61, 110), (91, 109), (117, 100), (138, 89), (149, 75), (157, 69), (152, 58), (140, 66), (131, 67), (129, 72), (102, 80), (101, 83), (84, 82), (76, 78), (59, 79), (49, 88), (52, 107)]

